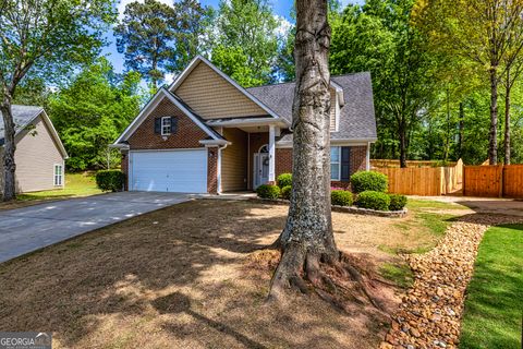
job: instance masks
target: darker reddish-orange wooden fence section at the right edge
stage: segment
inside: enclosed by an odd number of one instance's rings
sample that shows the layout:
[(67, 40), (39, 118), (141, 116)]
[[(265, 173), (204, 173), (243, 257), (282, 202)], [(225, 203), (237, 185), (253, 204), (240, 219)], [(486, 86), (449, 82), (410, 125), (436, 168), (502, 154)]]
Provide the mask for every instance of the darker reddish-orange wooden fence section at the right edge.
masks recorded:
[(523, 165), (465, 166), (463, 195), (523, 197)]

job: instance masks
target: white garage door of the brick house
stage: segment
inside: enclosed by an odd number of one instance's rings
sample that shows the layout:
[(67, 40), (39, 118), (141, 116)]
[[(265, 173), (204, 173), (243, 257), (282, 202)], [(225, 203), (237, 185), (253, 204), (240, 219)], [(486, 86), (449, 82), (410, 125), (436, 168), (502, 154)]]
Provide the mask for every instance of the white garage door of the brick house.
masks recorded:
[(206, 193), (207, 151), (131, 152), (133, 191)]

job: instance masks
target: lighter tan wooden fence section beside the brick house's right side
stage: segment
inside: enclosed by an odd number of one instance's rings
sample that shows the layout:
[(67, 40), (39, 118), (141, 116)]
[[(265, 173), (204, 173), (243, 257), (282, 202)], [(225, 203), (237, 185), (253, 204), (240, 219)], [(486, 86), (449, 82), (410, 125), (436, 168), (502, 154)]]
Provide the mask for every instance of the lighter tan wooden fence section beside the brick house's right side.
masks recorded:
[(389, 193), (437, 196), (462, 189), (463, 161), (453, 167), (375, 168), (389, 178)]

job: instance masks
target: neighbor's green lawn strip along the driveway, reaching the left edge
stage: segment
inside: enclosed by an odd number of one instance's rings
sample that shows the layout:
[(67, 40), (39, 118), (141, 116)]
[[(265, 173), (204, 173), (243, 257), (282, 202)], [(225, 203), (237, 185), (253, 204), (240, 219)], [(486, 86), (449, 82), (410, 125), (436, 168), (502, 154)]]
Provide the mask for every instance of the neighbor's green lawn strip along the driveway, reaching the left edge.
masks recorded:
[(64, 189), (19, 194), (14, 202), (0, 203), (0, 209), (19, 208), (49, 200), (89, 196), (100, 193), (101, 191), (96, 186), (94, 173), (66, 173)]

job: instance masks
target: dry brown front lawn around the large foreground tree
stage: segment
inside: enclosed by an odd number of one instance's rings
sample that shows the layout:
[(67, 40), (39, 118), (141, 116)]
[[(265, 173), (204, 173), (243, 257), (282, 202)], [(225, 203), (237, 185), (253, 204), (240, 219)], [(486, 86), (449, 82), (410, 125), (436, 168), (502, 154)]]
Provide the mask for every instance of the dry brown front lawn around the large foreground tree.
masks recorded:
[[(0, 264), (0, 328), (53, 330), (56, 348), (376, 348), (389, 320), (375, 309), (345, 313), (314, 294), (265, 303), (273, 255), (257, 250), (287, 213), (193, 201)], [(410, 270), (378, 246), (434, 244), (416, 215), (332, 213), (339, 249), (398, 284), (376, 284), (392, 305)]]

